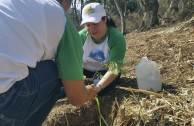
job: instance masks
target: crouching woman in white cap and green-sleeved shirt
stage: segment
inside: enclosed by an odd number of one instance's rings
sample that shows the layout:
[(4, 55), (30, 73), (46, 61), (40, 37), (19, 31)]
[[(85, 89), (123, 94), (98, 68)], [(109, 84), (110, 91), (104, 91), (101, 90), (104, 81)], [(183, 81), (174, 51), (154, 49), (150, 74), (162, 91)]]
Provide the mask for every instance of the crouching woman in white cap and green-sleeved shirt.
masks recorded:
[(121, 66), (126, 52), (124, 36), (116, 28), (104, 7), (97, 2), (84, 6), (79, 31), (83, 42), (83, 72), (86, 78), (93, 78), (103, 96), (113, 89), (121, 75)]

